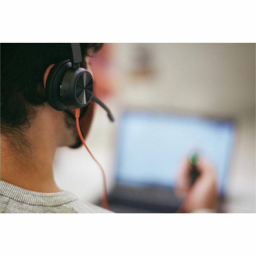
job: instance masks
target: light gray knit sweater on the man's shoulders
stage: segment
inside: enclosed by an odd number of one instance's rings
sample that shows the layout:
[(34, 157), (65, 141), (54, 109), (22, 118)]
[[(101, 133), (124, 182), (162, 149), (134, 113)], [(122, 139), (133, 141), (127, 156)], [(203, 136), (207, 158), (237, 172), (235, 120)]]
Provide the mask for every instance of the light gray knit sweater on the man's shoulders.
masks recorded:
[(112, 213), (69, 191), (39, 193), (1, 180), (1, 213)]

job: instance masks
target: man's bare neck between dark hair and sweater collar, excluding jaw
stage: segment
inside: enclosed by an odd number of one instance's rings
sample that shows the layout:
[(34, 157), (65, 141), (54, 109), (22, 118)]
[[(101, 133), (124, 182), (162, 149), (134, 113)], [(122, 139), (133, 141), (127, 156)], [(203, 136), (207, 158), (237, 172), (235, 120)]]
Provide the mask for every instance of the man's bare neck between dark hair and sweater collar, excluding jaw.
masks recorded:
[(36, 192), (60, 192), (53, 176), (57, 146), (49, 135), (38, 134), (33, 145), (19, 151), (1, 134), (1, 180)]

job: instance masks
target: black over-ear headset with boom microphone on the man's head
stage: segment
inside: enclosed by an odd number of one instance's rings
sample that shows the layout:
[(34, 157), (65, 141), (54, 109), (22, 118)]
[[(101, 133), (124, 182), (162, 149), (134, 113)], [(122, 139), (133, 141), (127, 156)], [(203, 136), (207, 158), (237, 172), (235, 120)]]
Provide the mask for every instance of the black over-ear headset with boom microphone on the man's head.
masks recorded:
[(80, 68), (82, 53), (79, 43), (70, 43), (70, 60), (64, 60), (54, 65), (46, 80), (46, 99), (52, 108), (65, 111), (68, 108), (84, 108), (91, 100), (98, 103), (108, 113), (111, 122), (114, 121), (109, 108), (94, 94), (94, 83), (91, 73)]

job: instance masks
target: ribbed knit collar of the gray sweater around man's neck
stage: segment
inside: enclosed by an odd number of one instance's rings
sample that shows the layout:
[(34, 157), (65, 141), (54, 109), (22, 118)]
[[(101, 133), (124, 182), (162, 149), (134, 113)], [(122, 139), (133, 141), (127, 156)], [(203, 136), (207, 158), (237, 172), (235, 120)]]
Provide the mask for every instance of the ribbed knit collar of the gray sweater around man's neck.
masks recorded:
[(1, 196), (30, 205), (58, 206), (77, 200), (77, 197), (69, 191), (40, 193), (17, 187), (3, 180), (0, 186)]

